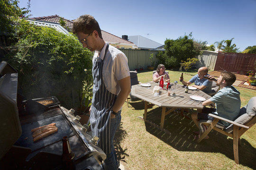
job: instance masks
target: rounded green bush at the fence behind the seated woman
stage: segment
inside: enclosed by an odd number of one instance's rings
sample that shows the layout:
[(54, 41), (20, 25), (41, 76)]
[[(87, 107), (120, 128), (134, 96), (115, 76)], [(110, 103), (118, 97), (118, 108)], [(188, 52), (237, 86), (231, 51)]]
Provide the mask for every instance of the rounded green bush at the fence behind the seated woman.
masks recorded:
[(200, 54), (200, 48), (196, 48), (192, 39), (192, 33), (184, 35), (176, 40), (165, 40), (165, 51), (159, 52), (157, 57), (166, 68), (179, 68), (180, 62), (193, 58)]

